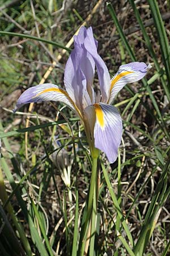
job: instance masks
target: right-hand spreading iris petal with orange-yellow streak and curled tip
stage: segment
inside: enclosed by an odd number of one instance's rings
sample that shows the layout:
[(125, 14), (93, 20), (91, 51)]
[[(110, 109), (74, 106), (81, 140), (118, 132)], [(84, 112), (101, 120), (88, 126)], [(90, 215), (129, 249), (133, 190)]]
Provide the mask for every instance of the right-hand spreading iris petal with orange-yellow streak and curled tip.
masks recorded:
[(128, 83), (141, 80), (150, 68), (143, 62), (131, 62), (129, 64), (121, 65), (116, 75), (114, 75), (110, 86), (110, 97), (108, 104), (111, 104), (116, 94)]

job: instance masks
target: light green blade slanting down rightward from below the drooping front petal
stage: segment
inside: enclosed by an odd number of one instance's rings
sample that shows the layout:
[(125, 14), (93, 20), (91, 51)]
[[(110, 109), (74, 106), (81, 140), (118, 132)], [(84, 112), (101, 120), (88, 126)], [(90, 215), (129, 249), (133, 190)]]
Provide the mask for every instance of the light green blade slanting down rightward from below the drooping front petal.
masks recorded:
[(108, 174), (107, 174), (107, 170), (105, 169), (103, 163), (101, 163), (101, 167), (102, 167), (102, 170), (103, 170), (103, 174), (104, 174), (105, 181), (107, 183), (109, 192), (111, 193), (112, 201), (113, 201), (114, 207), (116, 209), (116, 212), (117, 212), (118, 216), (120, 217), (121, 222), (122, 222), (122, 226), (124, 227), (124, 230), (125, 230), (128, 238), (129, 238), (129, 241), (130, 241), (131, 245), (133, 246), (134, 245), (133, 238), (131, 236), (131, 233), (130, 233), (130, 230), (128, 228), (128, 225), (126, 224), (125, 218), (124, 218), (124, 216), (123, 216), (123, 214), (121, 212), (120, 205), (118, 204), (118, 201), (116, 199), (116, 195), (115, 195), (115, 193), (114, 193), (114, 191), (112, 189), (112, 185), (111, 185), (111, 182), (110, 182)]

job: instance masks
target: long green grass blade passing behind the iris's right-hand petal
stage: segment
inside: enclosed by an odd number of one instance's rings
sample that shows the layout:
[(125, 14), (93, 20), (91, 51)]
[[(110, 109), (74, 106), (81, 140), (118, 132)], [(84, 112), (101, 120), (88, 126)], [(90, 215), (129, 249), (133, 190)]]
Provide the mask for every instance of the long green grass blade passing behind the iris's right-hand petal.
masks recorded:
[[(114, 11), (114, 9), (113, 9), (112, 4), (111, 4), (111, 3), (107, 3), (107, 7), (108, 7), (109, 13), (110, 13), (111, 16), (112, 16), (112, 19), (113, 19), (115, 25), (116, 25), (118, 34), (120, 34), (121, 40), (122, 40), (122, 42), (123, 42), (124, 45), (125, 45), (126, 51), (128, 52), (128, 54), (129, 54), (131, 60), (132, 60), (132, 61), (136, 61), (135, 56), (134, 56), (134, 52), (132, 51), (132, 49), (131, 49), (131, 47), (130, 47), (130, 45), (129, 45), (129, 43), (128, 43), (128, 40), (127, 40), (126, 37), (125, 37), (125, 34), (124, 34), (124, 32), (123, 32), (123, 30), (122, 30), (122, 28), (121, 28), (120, 22), (118, 22), (117, 15), (116, 15), (116, 13), (115, 13), (115, 11)], [(154, 98), (154, 96), (153, 96), (153, 94), (152, 94), (152, 90), (151, 90), (150, 86), (147, 84), (146, 79), (142, 79), (142, 82), (143, 82), (143, 85), (145, 86), (147, 92), (148, 92), (149, 95), (150, 95), (150, 98), (151, 98), (151, 101), (152, 101), (152, 103), (153, 103), (153, 105), (154, 105), (154, 108), (155, 108), (155, 110), (156, 110), (156, 113), (158, 114), (160, 120), (161, 120), (162, 123), (164, 124), (164, 126), (163, 126), (164, 133), (165, 133), (165, 134), (167, 135), (167, 137), (169, 138), (169, 133), (168, 133), (167, 128), (166, 128), (166, 125), (165, 125), (165, 123), (164, 123), (164, 119), (163, 119), (163, 117), (162, 117), (162, 114), (160, 113), (158, 104), (157, 104), (157, 102), (156, 102), (156, 100), (155, 100), (155, 98)], [(155, 118), (156, 118), (156, 117), (155, 117)], [(158, 123), (159, 123), (159, 121), (158, 121)], [(159, 125), (160, 125), (160, 123), (159, 123)]]

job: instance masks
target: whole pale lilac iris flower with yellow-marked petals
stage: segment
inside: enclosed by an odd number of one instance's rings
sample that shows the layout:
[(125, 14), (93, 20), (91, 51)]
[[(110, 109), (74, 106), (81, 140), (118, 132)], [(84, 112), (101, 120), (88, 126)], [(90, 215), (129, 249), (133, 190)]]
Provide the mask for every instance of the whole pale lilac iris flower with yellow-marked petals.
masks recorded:
[[(95, 68), (100, 89), (94, 90)], [(121, 65), (111, 79), (107, 66), (97, 53), (92, 28), (81, 27), (74, 36), (74, 49), (67, 60), (64, 74), (66, 90), (55, 84), (40, 84), (25, 90), (14, 112), (24, 104), (61, 101), (75, 111), (84, 125), (91, 151), (103, 151), (109, 162), (117, 159), (122, 137), (122, 120), (112, 106), (116, 94), (128, 83), (141, 80), (147, 72), (143, 62)]]

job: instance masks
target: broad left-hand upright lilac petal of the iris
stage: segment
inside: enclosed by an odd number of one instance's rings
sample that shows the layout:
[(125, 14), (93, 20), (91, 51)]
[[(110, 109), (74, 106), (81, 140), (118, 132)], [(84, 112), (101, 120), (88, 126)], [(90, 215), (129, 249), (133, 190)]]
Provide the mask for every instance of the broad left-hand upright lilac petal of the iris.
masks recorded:
[(78, 35), (74, 36), (74, 50), (67, 60), (64, 76), (66, 91), (80, 109), (86, 108), (94, 100), (92, 83), (95, 61), (84, 48), (86, 36), (87, 29), (85, 27), (81, 27)]

